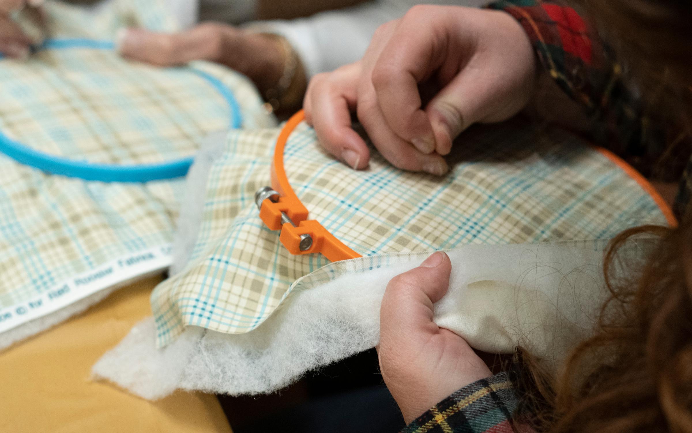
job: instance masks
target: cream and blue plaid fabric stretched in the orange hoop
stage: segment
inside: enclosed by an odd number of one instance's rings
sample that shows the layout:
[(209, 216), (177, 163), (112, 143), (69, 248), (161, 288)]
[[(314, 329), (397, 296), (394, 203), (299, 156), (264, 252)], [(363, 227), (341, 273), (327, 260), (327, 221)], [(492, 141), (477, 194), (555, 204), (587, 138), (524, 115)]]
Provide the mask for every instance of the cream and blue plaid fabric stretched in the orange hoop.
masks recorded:
[[(228, 135), (208, 177), (192, 259), (152, 294), (159, 346), (185, 326), (246, 333), (299, 289), (301, 277), (331, 278), (318, 270), (328, 263), (323, 256), (291, 256), (259, 218), (253, 194), (270, 184), (277, 134)], [(372, 266), (391, 253), (608, 239), (639, 224), (666, 224), (652, 197), (601, 152), (520, 121), (464, 132), (442, 178), (397, 170), (376, 152), (370, 168), (351, 170), (304, 124), (286, 143), (284, 164), (310, 218), (372, 257)]]

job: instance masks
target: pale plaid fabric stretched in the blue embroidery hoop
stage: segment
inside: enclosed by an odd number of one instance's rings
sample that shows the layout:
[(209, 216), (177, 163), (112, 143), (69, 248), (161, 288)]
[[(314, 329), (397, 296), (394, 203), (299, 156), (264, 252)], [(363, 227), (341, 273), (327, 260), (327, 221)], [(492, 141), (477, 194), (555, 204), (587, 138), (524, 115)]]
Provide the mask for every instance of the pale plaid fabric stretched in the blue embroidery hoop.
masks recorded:
[[(117, 28), (174, 30), (163, 2), (115, 0), (87, 12), (46, 4), (52, 37), (111, 39)], [(195, 71), (221, 80), (240, 113)], [(157, 69), (113, 50), (48, 48), (0, 60), (0, 133), (51, 154), (113, 164), (189, 157), (206, 134), (272, 125), (254, 87), (205, 62)], [(183, 180), (106, 184), (47, 175), (0, 154), (0, 313), (67, 279), (172, 240)], [(4, 317), (0, 314), (1, 317)]]

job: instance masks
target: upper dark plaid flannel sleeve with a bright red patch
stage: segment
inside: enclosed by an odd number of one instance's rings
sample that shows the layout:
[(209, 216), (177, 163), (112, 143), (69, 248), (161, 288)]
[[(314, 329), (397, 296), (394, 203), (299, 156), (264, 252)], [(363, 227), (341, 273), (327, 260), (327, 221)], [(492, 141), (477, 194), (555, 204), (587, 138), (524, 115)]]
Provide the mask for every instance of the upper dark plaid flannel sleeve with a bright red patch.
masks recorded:
[(692, 138), (670, 119), (646, 111), (608, 44), (565, 3), (503, 0), (489, 8), (504, 10), (522, 24), (543, 67), (585, 107), (599, 145), (646, 177), (664, 182), (682, 177), (675, 203), (675, 213), (682, 218), (692, 194)]

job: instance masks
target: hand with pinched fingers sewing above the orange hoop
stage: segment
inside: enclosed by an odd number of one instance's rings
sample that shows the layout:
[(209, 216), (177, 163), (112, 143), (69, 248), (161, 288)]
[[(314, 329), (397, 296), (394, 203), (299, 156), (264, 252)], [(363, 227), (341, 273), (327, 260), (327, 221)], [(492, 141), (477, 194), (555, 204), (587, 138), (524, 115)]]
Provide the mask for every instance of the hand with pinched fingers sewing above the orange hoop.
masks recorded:
[(531, 42), (507, 13), (415, 6), (378, 29), (363, 59), (314, 77), (304, 109), (320, 143), (353, 168), (370, 158), (355, 111), (394, 166), (442, 175), (456, 136), (519, 112), (535, 81)]

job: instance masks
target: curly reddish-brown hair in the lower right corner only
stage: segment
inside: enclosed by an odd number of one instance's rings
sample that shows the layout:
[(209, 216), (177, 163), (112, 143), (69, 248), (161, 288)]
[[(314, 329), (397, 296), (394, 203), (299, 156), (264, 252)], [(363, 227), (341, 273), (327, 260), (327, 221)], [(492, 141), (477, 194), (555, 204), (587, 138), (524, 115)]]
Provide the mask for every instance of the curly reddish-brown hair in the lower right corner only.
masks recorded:
[[(643, 233), (661, 237), (653, 260), (614, 278), (617, 251)], [(605, 272), (610, 299), (596, 333), (557, 377), (518, 350), (521, 413), (539, 432), (692, 432), (692, 227), (621, 233)]]

